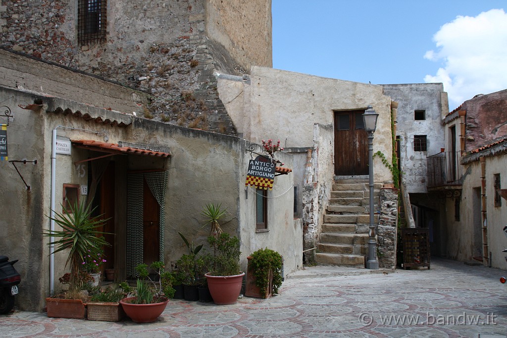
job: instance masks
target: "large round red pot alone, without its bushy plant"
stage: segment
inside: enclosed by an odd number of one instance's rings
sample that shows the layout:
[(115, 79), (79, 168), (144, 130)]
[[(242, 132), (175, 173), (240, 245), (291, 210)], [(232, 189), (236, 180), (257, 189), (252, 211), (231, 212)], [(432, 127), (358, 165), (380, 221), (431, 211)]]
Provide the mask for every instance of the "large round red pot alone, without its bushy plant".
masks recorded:
[(209, 293), (216, 305), (234, 304), (241, 292), (245, 273), (234, 276), (210, 276), (205, 274)]

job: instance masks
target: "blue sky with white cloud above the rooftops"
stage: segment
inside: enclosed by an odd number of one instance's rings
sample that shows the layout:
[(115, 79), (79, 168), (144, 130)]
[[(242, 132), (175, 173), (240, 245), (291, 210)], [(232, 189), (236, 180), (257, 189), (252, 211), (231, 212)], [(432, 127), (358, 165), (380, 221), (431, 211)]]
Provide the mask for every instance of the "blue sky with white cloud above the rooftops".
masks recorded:
[(452, 110), (507, 88), (504, 10), (505, 0), (272, 0), (273, 67), (373, 84), (443, 82)]

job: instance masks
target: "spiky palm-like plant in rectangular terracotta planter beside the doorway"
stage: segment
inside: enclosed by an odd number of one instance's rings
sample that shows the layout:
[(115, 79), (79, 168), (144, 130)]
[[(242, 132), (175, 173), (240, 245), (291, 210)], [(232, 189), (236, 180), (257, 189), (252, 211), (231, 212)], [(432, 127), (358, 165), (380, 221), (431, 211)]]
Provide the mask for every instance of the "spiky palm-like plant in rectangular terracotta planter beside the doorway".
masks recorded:
[(53, 254), (68, 250), (65, 262), (65, 267), (70, 265), (68, 290), (56, 297), (46, 298), (48, 317), (84, 318), (85, 296), (81, 292), (81, 287), (83, 280), (86, 280), (83, 274), (88, 276), (88, 273), (82, 271), (80, 265), (85, 261), (86, 255), (98, 257), (102, 247), (109, 245), (99, 236), (105, 232), (97, 230), (106, 220), (101, 219), (102, 215), (92, 217), (94, 209), (90, 209), (90, 206), (84, 203), (76, 202), (74, 206), (70, 206), (70, 211), (62, 209), (63, 213), (54, 212), (55, 216), (50, 217), (61, 230), (47, 230), (43, 235), (54, 238), (54, 241), (48, 243), (55, 246)]

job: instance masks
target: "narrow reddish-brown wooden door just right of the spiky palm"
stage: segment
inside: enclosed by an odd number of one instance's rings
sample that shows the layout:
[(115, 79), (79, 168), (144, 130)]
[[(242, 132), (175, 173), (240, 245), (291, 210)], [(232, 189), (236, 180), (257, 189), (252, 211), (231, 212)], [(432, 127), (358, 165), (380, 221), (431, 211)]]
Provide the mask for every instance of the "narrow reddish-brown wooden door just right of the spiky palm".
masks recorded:
[(104, 234), (104, 239), (111, 246), (104, 246), (104, 255), (106, 262), (104, 269), (115, 267), (115, 162), (110, 161), (105, 169), (99, 184), (100, 189), (100, 214), (108, 220), (104, 223), (100, 231), (108, 232)]

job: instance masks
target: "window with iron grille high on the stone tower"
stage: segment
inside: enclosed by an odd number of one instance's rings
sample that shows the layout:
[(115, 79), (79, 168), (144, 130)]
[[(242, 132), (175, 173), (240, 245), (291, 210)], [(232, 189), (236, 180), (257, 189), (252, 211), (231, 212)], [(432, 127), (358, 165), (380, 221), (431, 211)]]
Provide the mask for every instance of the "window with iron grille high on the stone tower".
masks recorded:
[(78, 43), (105, 42), (106, 0), (78, 0)]

